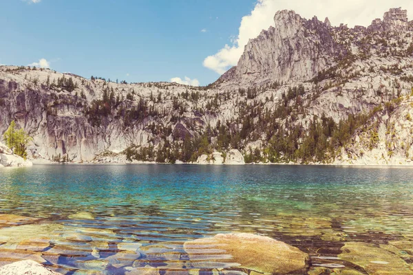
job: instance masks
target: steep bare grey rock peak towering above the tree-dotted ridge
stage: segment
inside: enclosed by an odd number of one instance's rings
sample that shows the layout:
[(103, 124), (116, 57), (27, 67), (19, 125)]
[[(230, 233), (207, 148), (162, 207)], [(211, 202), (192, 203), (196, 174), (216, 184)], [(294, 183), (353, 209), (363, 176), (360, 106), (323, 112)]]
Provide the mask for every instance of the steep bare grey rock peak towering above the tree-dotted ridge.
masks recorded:
[(328, 57), (340, 52), (329, 32), (330, 21), (302, 19), (282, 10), (274, 27), (262, 31), (245, 46), (244, 54), (229, 74), (218, 81), (262, 85), (277, 81), (306, 80), (326, 68)]

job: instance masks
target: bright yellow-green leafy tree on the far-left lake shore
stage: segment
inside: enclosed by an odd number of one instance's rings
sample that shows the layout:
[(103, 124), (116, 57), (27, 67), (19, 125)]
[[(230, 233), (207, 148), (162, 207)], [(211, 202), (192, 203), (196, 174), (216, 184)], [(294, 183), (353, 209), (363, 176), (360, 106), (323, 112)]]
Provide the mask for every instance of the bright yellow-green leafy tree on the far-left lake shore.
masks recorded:
[(28, 155), (26, 146), (30, 140), (32, 140), (32, 137), (30, 137), (23, 129), (17, 129), (14, 120), (10, 123), (10, 126), (4, 133), (4, 140), (6, 140), (6, 146), (12, 149), (13, 153), (26, 159)]

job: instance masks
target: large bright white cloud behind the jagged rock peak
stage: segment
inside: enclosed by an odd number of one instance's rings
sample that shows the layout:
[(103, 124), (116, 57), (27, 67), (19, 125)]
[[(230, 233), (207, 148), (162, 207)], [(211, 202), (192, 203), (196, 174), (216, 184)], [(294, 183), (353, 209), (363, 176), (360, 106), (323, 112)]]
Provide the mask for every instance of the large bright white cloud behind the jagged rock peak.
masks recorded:
[(254, 39), (262, 30), (274, 25), (274, 14), (278, 10), (295, 10), (301, 17), (311, 19), (315, 15), (319, 20), (330, 19), (332, 25), (340, 23), (368, 26), (373, 19), (383, 18), (390, 8), (403, 8), (413, 17), (412, 0), (258, 0), (255, 8), (242, 17), (236, 39), (231, 39), (216, 54), (204, 59), (204, 67), (223, 74), (230, 67), (237, 65), (249, 39)]

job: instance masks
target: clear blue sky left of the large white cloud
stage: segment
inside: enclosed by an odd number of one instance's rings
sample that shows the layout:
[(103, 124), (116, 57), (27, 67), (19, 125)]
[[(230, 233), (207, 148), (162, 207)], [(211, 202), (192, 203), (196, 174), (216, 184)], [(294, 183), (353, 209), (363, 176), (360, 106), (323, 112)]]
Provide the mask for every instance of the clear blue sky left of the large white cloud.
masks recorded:
[(56, 71), (85, 77), (187, 76), (207, 85), (219, 74), (202, 65), (204, 58), (230, 43), (255, 1), (3, 0), (0, 6), (1, 64), (45, 58)]

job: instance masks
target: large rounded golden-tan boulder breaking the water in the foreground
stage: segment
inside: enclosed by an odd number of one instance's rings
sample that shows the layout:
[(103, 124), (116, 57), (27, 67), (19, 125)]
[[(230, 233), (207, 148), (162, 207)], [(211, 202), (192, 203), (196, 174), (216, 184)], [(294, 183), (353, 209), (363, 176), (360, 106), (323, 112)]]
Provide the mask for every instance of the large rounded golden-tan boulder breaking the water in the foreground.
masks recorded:
[(218, 234), (187, 241), (184, 249), (189, 259), (218, 254), (222, 259), (217, 261), (231, 261), (242, 268), (270, 274), (304, 274), (309, 262), (308, 254), (298, 248), (267, 236), (248, 233)]

